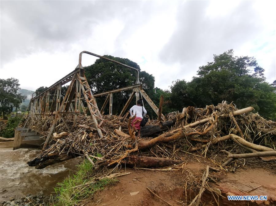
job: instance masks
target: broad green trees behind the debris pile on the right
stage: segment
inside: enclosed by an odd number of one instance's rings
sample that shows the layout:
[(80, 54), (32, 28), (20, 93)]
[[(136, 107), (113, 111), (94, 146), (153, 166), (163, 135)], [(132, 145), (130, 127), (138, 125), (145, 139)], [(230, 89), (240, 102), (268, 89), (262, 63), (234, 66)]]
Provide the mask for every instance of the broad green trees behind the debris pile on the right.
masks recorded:
[(237, 57), (228, 50), (201, 66), (198, 77), (191, 82), (174, 82), (172, 102), (181, 110), (188, 105), (205, 107), (223, 100), (234, 101), (238, 108), (253, 106), (262, 116), (275, 120), (276, 88), (265, 82), (263, 72), (254, 57)]

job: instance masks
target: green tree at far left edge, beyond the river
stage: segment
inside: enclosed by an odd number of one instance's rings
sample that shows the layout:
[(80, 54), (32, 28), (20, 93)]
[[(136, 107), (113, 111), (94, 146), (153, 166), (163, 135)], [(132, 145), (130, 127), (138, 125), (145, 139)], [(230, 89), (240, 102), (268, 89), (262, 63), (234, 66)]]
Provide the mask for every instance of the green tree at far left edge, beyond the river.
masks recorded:
[(0, 79), (0, 113), (5, 119), (5, 115), (12, 112), (13, 108), (19, 108), (22, 101), (25, 100), (25, 96), (18, 93), (20, 90), (20, 84), (18, 79)]

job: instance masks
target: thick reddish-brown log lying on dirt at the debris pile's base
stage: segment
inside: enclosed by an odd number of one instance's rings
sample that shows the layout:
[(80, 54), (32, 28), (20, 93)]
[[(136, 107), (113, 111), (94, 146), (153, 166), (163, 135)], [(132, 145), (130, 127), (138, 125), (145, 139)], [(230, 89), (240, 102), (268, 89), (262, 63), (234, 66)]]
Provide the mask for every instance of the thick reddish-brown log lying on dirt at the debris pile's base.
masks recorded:
[(154, 167), (166, 167), (174, 164), (179, 164), (179, 161), (169, 160), (165, 158), (147, 157), (147, 156), (127, 156), (121, 161), (122, 165), (127, 167), (143, 167), (143, 168), (154, 168)]

